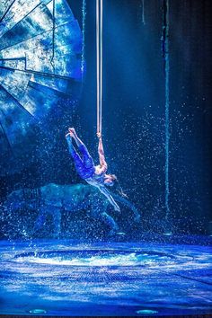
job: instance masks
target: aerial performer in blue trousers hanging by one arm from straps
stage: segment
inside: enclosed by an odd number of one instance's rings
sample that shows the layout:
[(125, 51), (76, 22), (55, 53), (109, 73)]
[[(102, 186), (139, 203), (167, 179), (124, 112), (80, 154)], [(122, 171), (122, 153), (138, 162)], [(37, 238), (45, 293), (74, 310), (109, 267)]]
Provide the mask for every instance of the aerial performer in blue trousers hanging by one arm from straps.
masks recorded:
[[(66, 141), (70, 155), (73, 157), (75, 162), (76, 172), (78, 172), (79, 176), (87, 183), (98, 188), (110, 201), (116, 211), (120, 211), (118, 204), (110, 195), (109, 190), (105, 187), (113, 186), (114, 181), (116, 181), (117, 178), (114, 174), (106, 173), (108, 165), (104, 157), (101, 133), (97, 134), (97, 137), (99, 138), (98, 153), (100, 164), (94, 165), (92, 156), (89, 154), (86, 146), (84, 146), (83, 141), (76, 135), (75, 128), (68, 128), (68, 131), (68, 134), (66, 134)], [(72, 144), (72, 138), (75, 139), (75, 144), (78, 146), (81, 156), (76, 152), (75, 147)]]

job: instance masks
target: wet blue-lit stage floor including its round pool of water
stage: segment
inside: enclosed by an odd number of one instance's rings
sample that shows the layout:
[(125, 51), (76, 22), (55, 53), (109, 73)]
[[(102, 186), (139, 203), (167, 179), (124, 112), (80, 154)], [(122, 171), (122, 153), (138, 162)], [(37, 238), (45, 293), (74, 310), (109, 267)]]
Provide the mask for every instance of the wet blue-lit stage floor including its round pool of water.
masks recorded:
[(0, 242), (0, 314), (212, 314), (203, 245)]

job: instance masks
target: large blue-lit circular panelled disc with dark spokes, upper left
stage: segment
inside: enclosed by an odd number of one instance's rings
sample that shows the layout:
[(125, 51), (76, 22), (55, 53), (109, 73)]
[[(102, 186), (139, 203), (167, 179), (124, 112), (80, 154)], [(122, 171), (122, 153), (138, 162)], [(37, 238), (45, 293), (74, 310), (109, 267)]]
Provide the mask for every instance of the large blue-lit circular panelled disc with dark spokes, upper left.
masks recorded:
[(1, 1), (1, 175), (27, 165), (36, 128), (47, 130), (61, 99), (68, 99), (63, 107), (72, 114), (72, 103), (81, 91), (82, 41), (66, 0)]

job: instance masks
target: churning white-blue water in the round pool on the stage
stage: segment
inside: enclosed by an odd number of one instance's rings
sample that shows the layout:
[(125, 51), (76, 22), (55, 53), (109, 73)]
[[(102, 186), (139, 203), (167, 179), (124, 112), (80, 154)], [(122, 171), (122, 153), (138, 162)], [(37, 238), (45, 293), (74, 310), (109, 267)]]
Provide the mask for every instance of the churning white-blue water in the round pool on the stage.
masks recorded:
[[(51, 266), (172, 266), (179, 262), (170, 253), (158, 251), (119, 251), (116, 249), (86, 249), (23, 252), (16, 254), (13, 261), (18, 263), (48, 264)], [(181, 260), (180, 260), (181, 261)]]

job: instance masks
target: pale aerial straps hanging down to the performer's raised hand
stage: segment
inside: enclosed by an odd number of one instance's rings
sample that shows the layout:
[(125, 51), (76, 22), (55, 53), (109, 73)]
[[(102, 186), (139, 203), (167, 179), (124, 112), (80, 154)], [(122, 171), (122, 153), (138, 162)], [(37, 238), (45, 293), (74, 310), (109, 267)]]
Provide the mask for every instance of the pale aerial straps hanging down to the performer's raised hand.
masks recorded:
[(97, 133), (102, 134), (102, 0), (96, 0)]

